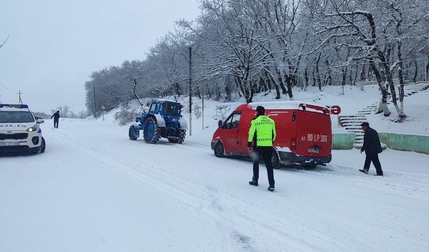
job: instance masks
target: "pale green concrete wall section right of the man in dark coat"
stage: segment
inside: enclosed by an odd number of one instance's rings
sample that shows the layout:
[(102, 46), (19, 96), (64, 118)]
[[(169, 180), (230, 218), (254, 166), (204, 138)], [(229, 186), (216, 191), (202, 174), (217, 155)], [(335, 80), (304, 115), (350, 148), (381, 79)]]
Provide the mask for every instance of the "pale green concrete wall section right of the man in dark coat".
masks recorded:
[(429, 154), (429, 136), (379, 133), (379, 137), (392, 150)]

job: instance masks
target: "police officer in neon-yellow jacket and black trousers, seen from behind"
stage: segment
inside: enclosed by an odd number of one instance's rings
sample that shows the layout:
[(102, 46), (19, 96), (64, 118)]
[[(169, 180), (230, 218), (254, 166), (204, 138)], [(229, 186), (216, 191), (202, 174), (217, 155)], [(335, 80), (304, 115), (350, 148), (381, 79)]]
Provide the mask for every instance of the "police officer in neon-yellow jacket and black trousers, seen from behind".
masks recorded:
[[(262, 156), (265, 163), (266, 173), (268, 174), (269, 191), (274, 191), (274, 172), (271, 158), (273, 155), (273, 142), (276, 139), (276, 124), (274, 120), (265, 116), (265, 108), (256, 107), (256, 117), (250, 122), (249, 138), (247, 141), (247, 150), (252, 152), (253, 157), (253, 178), (249, 181), (251, 185), (258, 185), (259, 178), (259, 160)], [(253, 151), (252, 151), (253, 142)]]

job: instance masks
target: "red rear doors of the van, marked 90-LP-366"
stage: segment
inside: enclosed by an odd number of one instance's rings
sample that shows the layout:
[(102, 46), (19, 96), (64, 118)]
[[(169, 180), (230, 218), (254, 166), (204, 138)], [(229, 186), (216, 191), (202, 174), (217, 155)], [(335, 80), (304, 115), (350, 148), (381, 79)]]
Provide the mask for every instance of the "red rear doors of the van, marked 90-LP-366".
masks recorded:
[(324, 107), (302, 104), (297, 111), (296, 154), (329, 157), (332, 146), (331, 116)]

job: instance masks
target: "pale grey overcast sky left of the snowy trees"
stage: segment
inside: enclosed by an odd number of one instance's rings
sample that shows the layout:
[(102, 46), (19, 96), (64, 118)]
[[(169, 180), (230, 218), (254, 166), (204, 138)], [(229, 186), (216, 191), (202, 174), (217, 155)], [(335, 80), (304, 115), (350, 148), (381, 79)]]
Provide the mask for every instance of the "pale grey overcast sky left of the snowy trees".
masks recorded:
[(144, 59), (174, 21), (193, 20), (197, 0), (2, 0), (0, 102), (50, 113), (85, 110), (89, 75)]

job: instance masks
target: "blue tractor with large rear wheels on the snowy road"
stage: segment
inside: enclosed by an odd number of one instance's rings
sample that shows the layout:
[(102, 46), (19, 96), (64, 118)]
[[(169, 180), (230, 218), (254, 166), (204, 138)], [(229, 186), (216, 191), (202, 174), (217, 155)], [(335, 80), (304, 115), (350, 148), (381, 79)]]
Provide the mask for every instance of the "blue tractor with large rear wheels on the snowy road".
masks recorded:
[(183, 144), (185, 141), (188, 123), (182, 117), (183, 105), (179, 102), (154, 99), (150, 104), (149, 111), (144, 111), (141, 116), (136, 117), (129, 130), (128, 136), (131, 140), (140, 137), (143, 131), (143, 139), (148, 144), (156, 144), (159, 138), (167, 138), (170, 143)]

